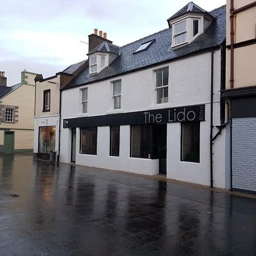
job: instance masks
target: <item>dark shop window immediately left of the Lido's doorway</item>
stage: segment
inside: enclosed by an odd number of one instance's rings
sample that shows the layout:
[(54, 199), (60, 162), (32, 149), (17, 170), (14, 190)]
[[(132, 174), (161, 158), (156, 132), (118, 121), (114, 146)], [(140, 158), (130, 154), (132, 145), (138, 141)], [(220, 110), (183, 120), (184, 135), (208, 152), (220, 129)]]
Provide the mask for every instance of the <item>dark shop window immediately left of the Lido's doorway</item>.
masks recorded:
[(132, 158), (152, 158), (152, 126), (131, 126), (131, 151)]

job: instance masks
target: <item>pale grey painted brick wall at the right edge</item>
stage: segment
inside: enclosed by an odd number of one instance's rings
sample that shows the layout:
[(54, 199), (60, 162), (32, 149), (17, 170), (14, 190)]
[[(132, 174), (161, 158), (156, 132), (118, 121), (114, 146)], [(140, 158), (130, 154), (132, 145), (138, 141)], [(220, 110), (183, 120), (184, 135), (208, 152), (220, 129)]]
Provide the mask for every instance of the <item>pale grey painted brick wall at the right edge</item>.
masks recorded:
[(256, 191), (256, 118), (232, 119), (233, 188)]

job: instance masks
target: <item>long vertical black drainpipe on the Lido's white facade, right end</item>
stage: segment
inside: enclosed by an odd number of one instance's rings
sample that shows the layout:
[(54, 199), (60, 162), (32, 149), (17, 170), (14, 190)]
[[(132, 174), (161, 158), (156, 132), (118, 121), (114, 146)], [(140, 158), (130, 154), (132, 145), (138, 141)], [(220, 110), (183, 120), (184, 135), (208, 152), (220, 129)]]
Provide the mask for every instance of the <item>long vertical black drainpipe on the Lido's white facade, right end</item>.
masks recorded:
[(214, 50), (211, 51), (211, 71), (210, 71), (210, 187), (213, 188), (213, 55)]

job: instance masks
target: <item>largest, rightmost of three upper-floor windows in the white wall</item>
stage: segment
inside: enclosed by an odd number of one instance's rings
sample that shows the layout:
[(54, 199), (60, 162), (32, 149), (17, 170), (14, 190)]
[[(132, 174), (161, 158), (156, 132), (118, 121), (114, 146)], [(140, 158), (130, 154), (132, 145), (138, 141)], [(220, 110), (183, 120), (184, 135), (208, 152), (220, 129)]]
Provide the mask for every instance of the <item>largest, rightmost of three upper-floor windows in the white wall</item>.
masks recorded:
[(156, 104), (168, 102), (169, 69), (156, 71)]

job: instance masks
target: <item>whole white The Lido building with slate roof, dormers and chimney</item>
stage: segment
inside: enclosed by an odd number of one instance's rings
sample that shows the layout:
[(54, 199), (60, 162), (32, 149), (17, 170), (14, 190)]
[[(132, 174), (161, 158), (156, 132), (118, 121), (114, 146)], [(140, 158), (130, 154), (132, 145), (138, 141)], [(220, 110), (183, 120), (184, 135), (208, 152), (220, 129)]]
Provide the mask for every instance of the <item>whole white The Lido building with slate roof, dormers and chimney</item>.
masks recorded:
[(87, 65), (61, 88), (60, 162), (229, 188), (226, 7), (189, 2), (167, 21), (122, 47), (89, 35)]

